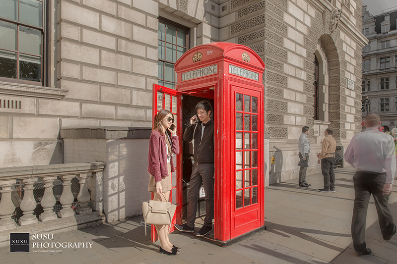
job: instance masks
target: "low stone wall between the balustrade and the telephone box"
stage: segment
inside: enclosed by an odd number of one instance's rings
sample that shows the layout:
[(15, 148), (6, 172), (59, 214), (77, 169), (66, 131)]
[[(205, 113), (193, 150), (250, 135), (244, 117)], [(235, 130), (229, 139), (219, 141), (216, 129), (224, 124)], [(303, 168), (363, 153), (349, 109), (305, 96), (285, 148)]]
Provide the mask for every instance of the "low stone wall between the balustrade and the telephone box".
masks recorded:
[(105, 162), (102, 191), (104, 214), (108, 222), (142, 213), (142, 202), (150, 199), (147, 191), (148, 139), (109, 139), (108, 136), (94, 133), (87, 137), (79, 129), (63, 129), (62, 136), (65, 163)]

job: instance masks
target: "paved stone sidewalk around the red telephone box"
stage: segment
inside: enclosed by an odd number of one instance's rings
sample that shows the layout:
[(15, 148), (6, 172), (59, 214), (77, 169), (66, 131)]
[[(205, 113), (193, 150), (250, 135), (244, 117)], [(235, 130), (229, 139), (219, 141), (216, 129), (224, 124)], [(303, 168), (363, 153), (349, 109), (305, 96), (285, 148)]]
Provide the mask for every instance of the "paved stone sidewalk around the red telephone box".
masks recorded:
[[(352, 168), (336, 169), (336, 193), (320, 193), (321, 174), (307, 177), (309, 188), (297, 179), (265, 188), (267, 230), (221, 248), (192, 234), (175, 231), (170, 241), (182, 247), (179, 256), (158, 253), (158, 243), (145, 237), (142, 217), (54, 235), (53, 242), (90, 242), (92, 248), (56, 252), (9, 253), (0, 248), (0, 263), (12, 264), (397, 264), (397, 235), (384, 241), (373, 199), (367, 217), (366, 242), (370, 256), (352, 249), (350, 223), (354, 190)], [(389, 201), (397, 222), (397, 187)], [(149, 229), (148, 229), (149, 231)], [(32, 250), (32, 249), (31, 249)]]

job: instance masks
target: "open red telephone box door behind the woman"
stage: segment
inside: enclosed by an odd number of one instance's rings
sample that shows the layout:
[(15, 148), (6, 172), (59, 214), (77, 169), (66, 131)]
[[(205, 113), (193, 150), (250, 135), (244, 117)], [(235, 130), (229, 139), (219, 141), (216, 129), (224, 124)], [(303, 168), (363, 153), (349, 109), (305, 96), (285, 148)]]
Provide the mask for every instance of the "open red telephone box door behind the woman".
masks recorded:
[[(174, 164), (175, 169), (176, 169), (176, 185), (172, 187), (172, 190), (170, 192), (170, 201), (172, 201), (172, 193), (177, 191), (176, 193), (176, 205), (177, 209), (175, 211), (174, 218), (172, 219), (172, 224), (171, 224), (171, 230), (170, 232), (174, 231), (174, 225), (175, 223), (181, 224), (182, 223), (182, 104), (181, 104), (181, 93), (177, 92), (173, 89), (158, 85), (158, 84), (153, 84), (153, 107), (152, 107), (152, 127), (154, 127), (154, 116), (157, 114), (158, 108), (157, 108), (157, 94), (160, 92), (162, 94), (162, 109), (165, 109), (165, 95), (170, 95), (170, 110), (173, 114), (177, 114), (177, 120), (176, 120), (176, 125), (177, 125), (177, 135), (179, 137), (179, 146), (181, 152), (176, 156), (176, 162)], [(177, 112), (172, 111), (172, 97), (176, 97), (177, 100)], [(174, 183), (173, 183), (174, 185)], [(153, 193), (151, 195), (151, 199), (153, 199)], [(151, 226), (151, 239), (152, 242), (157, 241), (158, 236), (156, 232), (156, 228), (154, 225)]]

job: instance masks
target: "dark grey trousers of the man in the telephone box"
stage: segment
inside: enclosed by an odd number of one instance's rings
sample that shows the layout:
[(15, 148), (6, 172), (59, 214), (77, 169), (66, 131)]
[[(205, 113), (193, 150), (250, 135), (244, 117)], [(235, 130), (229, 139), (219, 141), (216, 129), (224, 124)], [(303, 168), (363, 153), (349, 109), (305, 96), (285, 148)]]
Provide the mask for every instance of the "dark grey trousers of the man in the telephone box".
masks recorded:
[(212, 226), (214, 218), (214, 163), (193, 164), (192, 176), (189, 183), (189, 206), (187, 224), (195, 226), (197, 203), (199, 201), (199, 191), (201, 183), (204, 185), (205, 192), (205, 218), (204, 225)]

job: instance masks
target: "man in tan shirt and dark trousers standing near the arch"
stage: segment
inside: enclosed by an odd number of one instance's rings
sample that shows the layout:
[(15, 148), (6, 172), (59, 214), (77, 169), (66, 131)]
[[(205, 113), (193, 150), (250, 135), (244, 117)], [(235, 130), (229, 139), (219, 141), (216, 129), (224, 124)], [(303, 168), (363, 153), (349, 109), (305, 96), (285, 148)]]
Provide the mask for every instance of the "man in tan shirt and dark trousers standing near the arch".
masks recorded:
[(332, 137), (333, 129), (331, 127), (324, 131), (326, 136), (321, 144), (321, 153), (317, 163), (321, 163), (321, 172), (324, 176), (324, 188), (319, 189), (323, 193), (335, 192), (335, 173), (333, 167), (335, 165), (334, 153), (336, 151), (336, 141)]

